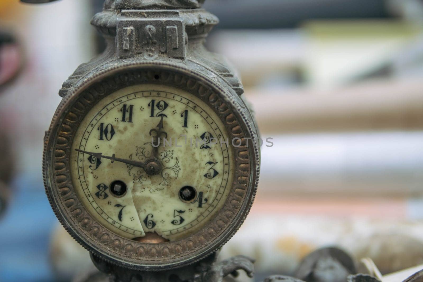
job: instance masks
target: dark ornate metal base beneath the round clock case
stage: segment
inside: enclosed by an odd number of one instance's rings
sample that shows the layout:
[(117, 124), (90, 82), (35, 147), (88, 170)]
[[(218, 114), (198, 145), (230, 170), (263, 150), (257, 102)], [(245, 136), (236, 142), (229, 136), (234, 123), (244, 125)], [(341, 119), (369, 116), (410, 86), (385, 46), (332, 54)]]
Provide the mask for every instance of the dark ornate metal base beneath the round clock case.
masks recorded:
[(91, 260), (99, 272), (86, 274), (74, 282), (222, 282), (229, 275), (237, 277), (239, 270), (249, 277), (254, 274), (253, 259), (241, 255), (217, 262), (216, 252), (190, 266), (158, 272), (122, 268), (93, 254)]

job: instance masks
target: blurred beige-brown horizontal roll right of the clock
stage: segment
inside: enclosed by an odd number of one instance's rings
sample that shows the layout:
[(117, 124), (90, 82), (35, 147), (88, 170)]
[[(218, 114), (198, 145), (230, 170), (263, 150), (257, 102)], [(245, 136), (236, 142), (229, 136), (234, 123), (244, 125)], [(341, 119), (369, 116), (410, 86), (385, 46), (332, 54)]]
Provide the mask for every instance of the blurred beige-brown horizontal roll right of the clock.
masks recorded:
[(245, 96), (265, 134), (423, 129), (420, 78), (331, 90), (247, 88)]

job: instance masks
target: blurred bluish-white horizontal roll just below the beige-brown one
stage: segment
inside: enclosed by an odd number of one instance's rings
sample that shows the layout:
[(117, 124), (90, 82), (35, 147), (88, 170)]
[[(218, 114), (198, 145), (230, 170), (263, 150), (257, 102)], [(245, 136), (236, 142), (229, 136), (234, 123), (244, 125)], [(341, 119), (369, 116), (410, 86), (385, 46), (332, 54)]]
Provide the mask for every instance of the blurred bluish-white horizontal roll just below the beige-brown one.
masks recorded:
[[(269, 136), (259, 184), (268, 196), (423, 196), (423, 131)], [(419, 203), (410, 216), (422, 218)]]

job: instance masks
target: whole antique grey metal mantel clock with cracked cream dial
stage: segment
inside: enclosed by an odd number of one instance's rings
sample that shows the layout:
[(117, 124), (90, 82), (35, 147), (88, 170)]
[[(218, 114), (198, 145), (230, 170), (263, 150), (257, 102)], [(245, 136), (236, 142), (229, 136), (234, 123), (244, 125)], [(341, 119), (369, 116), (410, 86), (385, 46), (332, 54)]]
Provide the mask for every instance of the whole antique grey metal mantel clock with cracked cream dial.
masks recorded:
[[(107, 0), (91, 22), (106, 50), (59, 92), (44, 140), (46, 191), (103, 271), (196, 266), (193, 276), (253, 203), (258, 131), (239, 79), (203, 45), (218, 23), (203, 2)], [(227, 264), (211, 274), (210, 262), (192, 281), (250, 268), (244, 257)]]

